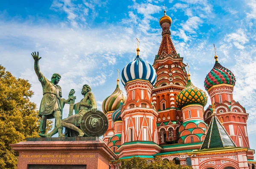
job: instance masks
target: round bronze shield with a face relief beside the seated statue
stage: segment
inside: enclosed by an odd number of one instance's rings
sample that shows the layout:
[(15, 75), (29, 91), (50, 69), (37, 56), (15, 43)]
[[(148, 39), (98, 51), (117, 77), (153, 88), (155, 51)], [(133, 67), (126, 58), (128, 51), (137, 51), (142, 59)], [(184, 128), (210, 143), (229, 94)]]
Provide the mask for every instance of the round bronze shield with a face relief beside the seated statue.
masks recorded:
[(96, 113), (88, 111), (82, 116), (80, 127), (85, 135), (99, 137), (108, 130), (108, 118), (99, 110)]

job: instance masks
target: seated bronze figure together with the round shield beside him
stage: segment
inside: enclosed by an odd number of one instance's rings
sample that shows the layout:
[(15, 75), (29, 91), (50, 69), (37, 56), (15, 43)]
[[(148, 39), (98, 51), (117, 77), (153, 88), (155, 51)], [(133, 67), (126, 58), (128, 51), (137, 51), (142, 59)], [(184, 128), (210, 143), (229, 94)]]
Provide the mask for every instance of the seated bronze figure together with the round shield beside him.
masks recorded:
[[(103, 112), (97, 111), (96, 100), (89, 85), (83, 86), (81, 94), (84, 98), (74, 105), (76, 114), (70, 115), (61, 122), (61, 126), (66, 127), (66, 136), (82, 137), (103, 135), (108, 129), (108, 118)], [(84, 123), (81, 123), (81, 119), (87, 116), (90, 118), (90, 122), (85, 120)], [(86, 128), (90, 127), (94, 129), (87, 132)], [(91, 131), (95, 134), (92, 135)]]

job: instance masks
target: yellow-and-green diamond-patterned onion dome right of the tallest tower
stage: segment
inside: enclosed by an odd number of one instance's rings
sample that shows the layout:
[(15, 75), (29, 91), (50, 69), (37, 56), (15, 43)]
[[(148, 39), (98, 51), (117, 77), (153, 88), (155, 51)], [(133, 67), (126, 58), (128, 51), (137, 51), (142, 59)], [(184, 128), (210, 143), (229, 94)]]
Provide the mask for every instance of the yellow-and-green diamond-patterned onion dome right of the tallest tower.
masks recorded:
[(176, 97), (177, 107), (179, 107), (180, 110), (182, 107), (189, 104), (200, 104), (204, 107), (207, 104), (206, 93), (192, 84), (190, 74), (188, 74), (188, 78), (189, 80), (186, 87), (181, 90)]

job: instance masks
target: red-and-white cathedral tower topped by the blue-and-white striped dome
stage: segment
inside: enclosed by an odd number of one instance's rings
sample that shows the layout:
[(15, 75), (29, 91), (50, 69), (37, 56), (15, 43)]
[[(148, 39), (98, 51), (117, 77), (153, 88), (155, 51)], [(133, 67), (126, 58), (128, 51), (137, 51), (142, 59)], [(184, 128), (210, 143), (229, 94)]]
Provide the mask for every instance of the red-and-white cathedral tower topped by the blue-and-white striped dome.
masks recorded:
[(136, 59), (122, 70), (122, 84), (125, 85), (127, 102), (121, 110), (122, 145), (119, 158), (134, 155), (148, 155), (160, 152), (157, 138), (157, 116), (152, 103), (151, 91), (156, 81), (154, 68), (144, 62), (137, 48)]

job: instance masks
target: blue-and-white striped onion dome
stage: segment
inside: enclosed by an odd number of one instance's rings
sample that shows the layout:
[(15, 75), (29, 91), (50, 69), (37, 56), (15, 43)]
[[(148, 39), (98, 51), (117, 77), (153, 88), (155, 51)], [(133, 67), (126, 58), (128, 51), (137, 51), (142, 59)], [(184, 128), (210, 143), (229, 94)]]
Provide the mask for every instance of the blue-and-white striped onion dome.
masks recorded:
[(137, 55), (136, 59), (125, 66), (122, 70), (121, 81), (125, 86), (126, 82), (134, 79), (144, 79), (151, 82), (152, 85), (156, 82), (157, 74), (154, 68)]

